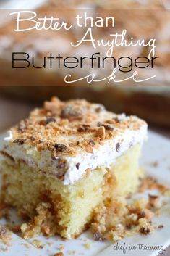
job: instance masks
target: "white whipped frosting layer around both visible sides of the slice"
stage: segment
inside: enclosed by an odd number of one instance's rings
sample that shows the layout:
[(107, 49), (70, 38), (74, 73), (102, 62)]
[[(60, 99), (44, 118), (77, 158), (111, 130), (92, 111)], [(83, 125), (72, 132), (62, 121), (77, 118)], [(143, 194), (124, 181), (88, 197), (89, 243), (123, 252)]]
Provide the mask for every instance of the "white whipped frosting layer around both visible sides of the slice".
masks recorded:
[[(99, 166), (109, 167), (113, 164), (117, 157), (126, 152), (130, 146), (135, 144), (143, 144), (147, 137), (147, 125), (143, 123), (138, 130), (126, 129), (121, 135), (105, 141), (99, 149), (93, 149), (92, 153), (80, 152), (75, 157), (64, 156), (67, 160), (68, 170), (64, 175), (64, 185), (70, 185), (80, 180), (88, 168), (95, 169)], [(9, 141), (12, 141), (12, 132), (9, 131), (9, 136), (4, 139), (7, 141), (5, 151), (12, 155), (15, 160), (24, 160), (31, 168), (45, 171), (46, 174), (56, 176), (57, 161), (52, 160), (51, 153), (47, 150), (38, 152), (36, 148), (31, 148), (28, 144), (10, 146)], [(119, 150), (116, 150), (116, 144), (119, 143)], [(62, 157), (59, 157), (62, 158)], [(77, 169), (76, 164), (79, 163)]]

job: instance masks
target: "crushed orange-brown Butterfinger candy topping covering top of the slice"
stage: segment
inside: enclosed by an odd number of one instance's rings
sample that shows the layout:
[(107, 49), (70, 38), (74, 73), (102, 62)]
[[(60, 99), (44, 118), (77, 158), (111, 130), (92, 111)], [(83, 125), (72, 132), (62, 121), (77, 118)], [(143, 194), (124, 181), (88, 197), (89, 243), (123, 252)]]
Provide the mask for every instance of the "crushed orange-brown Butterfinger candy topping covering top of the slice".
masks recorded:
[(121, 136), (127, 128), (138, 131), (142, 125), (145, 121), (135, 116), (116, 115), (101, 104), (91, 104), (84, 99), (61, 102), (53, 97), (11, 129), (11, 143), (26, 144), (38, 152), (47, 149), (51, 157), (75, 156), (80, 151), (98, 149), (98, 145)]

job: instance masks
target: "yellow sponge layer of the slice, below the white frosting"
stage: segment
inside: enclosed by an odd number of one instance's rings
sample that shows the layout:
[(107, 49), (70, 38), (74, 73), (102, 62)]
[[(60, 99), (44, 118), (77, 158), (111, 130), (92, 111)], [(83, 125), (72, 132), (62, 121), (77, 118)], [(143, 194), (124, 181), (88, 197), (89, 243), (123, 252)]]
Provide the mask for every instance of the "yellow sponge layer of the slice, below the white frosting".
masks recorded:
[(23, 236), (60, 234), (71, 239), (81, 234), (103, 200), (135, 192), (143, 176), (138, 165), (140, 148), (139, 144), (132, 146), (111, 168), (88, 170), (80, 181), (67, 186), (25, 162), (5, 157), (1, 165), (3, 199), (30, 218), (22, 225)]

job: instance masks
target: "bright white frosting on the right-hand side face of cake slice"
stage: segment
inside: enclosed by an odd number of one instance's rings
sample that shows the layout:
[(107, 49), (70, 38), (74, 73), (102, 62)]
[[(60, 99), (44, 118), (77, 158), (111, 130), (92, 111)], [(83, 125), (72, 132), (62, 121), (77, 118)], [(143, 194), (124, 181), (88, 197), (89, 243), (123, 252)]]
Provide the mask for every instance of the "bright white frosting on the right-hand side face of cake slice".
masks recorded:
[[(72, 184), (79, 180), (88, 168), (95, 169), (98, 166), (109, 168), (116, 161), (116, 158), (126, 152), (130, 146), (142, 144), (147, 136), (147, 125), (140, 127), (140, 130), (126, 130), (122, 136), (117, 136), (112, 140), (106, 141), (99, 149), (94, 149), (93, 153), (77, 155), (76, 157), (67, 157), (69, 170), (65, 173), (64, 184)], [(116, 144), (120, 143), (119, 150), (116, 150)], [(76, 163), (80, 163), (77, 170)]]

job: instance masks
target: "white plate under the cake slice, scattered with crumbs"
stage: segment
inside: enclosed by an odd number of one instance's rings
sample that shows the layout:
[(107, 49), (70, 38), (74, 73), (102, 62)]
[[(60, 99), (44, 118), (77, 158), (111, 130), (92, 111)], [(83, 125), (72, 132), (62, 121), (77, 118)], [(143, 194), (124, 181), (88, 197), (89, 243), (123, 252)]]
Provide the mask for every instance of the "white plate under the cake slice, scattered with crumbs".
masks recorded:
[[(0, 144), (3, 141), (3, 135), (0, 136)], [(170, 186), (170, 140), (159, 136), (156, 133), (149, 132), (148, 141), (143, 146), (143, 157), (141, 159), (141, 165), (144, 166), (147, 175), (151, 175), (161, 181), (162, 183)], [(150, 165), (151, 162), (158, 162), (157, 167)], [(169, 202), (170, 205), (170, 202)], [(14, 212), (12, 212), (12, 220), (20, 222)], [(5, 220), (1, 220), (0, 223), (4, 223)], [(59, 252), (59, 247), (64, 245), (64, 256), (66, 255), (85, 255), (85, 256), (155, 256), (158, 255), (160, 249), (148, 250), (139, 249), (138, 244), (144, 244), (145, 246), (159, 246), (165, 249), (170, 244), (170, 210), (169, 212), (162, 212), (162, 214), (154, 219), (156, 223), (163, 224), (164, 228), (154, 231), (149, 236), (131, 236), (127, 239), (119, 241), (119, 246), (123, 246), (125, 243), (126, 253), (121, 249), (114, 247), (115, 244), (111, 242), (98, 242), (93, 241), (90, 231), (82, 234), (78, 239), (71, 241), (64, 241), (59, 236), (51, 238), (38, 237), (35, 239), (41, 240), (45, 245), (43, 249), (36, 249), (30, 243), (21, 239), (16, 234), (12, 234), (11, 247), (8, 247), (7, 251), (1, 250), (1, 247), (6, 247), (4, 244), (0, 244), (0, 255), (4, 256), (53, 256), (54, 253)], [(34, 239), (32, 239), (33, 241)], [(27, 245), (29, 249), (27, 248)], [(85, 247), (85, 244), (90, 244), (90, 249)], [(129, 246), (135, 246), (134, 250), (129, 250)], [(161, 254), (160, 254), (161, 255)]]

